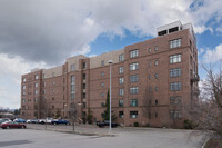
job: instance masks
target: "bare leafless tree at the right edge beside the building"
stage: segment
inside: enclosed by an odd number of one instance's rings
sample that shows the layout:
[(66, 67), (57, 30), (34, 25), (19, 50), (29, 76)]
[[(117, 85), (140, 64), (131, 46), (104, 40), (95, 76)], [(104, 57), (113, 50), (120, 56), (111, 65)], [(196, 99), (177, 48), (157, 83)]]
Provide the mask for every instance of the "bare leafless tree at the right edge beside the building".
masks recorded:
[(203, 69), (206, 79), (202, 81), (199, 98), (191, 99), (188, 106), (189, 116), (196, 129), (222, 135), (222, 71), (204, 65)]

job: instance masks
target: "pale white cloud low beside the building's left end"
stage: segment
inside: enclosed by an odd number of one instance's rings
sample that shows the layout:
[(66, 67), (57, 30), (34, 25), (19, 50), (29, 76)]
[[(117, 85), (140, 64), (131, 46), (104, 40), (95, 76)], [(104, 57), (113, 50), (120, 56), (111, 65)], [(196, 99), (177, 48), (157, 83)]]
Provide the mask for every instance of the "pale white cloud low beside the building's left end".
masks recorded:
[(0, 105), (4, 108), (20, 107), (21, 75), (34, 67), (48, 67), (44, 62), (27, 62), (21, 57), (0, 53)]

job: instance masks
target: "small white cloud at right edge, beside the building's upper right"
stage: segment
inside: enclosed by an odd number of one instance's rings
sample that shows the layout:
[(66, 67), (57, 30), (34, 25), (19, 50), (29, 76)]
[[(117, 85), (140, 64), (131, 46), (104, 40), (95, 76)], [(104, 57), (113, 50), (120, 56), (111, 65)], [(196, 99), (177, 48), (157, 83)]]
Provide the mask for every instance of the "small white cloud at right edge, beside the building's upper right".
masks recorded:
[(205, 49), (203, 55), (203, 62), (218, 62), (222, 60), (222, 43), (216, 46), (215, 49)]

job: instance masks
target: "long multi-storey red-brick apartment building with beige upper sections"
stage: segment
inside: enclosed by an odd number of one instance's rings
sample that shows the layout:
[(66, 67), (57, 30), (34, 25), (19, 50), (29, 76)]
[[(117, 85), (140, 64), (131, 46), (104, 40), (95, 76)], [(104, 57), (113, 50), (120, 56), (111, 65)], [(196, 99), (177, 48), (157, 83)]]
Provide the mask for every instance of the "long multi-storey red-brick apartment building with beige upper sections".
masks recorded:
[(32, 70), (21, 77), (21, 117), (78, 117), (88, 109), (101, 121), (110, 88), (117, 122), (131, 126), (182, 127), (182, 106), (198, 89), (196, 39), (191, 23), (160, 27), (158, 37), (95, 57), (75, 56), (62, 66)]

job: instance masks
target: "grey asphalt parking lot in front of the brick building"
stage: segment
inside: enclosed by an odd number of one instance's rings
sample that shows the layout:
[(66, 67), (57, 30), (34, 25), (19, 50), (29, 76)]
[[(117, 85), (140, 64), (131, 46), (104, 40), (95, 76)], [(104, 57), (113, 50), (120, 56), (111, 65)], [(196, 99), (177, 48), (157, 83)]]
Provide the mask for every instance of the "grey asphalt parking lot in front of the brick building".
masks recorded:
[[(7, 148), (199, 148), (205, 137), (191, 130), (157, 128), (108, 128), (28, 125), (28, 129), (0, 129), (0, 147)], [(59, 130), (59, 131), (56, 131)]]

